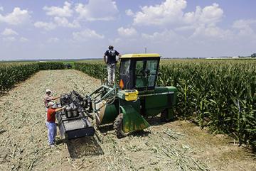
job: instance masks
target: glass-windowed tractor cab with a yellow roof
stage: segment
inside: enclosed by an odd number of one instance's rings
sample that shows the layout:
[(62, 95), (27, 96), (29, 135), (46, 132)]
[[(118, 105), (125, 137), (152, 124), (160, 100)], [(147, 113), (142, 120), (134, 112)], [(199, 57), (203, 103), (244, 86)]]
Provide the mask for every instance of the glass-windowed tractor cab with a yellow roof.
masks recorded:
[(127, 54), (120, 57), (121, 89), (144, 91), (155, 89), (159, 70), (159, 54)]

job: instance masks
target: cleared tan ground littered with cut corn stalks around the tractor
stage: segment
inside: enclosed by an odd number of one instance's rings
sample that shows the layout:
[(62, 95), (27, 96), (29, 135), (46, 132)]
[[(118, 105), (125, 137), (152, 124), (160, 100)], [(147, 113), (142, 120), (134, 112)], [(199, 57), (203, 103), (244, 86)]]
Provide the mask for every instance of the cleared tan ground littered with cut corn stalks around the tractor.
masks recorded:
[(228, 136), (193, 123), (161, 123), (117, 139), (112, 126), (97, 136), (48, 147), (45, 89), (90, 93), (100, 81), (76, 70), (41, 71), (0, 98), (0, 170), (256, 170), (255, 154)]

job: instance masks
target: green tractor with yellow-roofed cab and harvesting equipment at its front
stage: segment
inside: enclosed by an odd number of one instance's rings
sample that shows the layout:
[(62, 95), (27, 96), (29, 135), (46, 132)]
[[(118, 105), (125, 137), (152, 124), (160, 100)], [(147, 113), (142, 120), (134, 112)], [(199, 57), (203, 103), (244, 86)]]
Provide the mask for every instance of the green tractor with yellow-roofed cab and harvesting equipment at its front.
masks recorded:
[[(134, 131), (148, 128), (148, 117), (161, 114), (161, 121), (173, 119), (177, 89), (156, 86), (160, 57), (159, 54), (122, 55), (119, 86), (102, 84), (95, 92), (84, 97), (78, 94), (79, 97), (76, 99), (80, 99), (80, 102), (75, 104), (80, 109), (78, 113), (85, 116), (83, 120), (86, 120), (87, 116), (92, 116), (97, 126), (113, 124), (117, 138), (122, 138)], [(65, 115), (62, 116), (65, 120)], [(83, 127), (81, 133), (78, 130), (73, 131), (76, 133), (75, 136), (71, 130), (70, 137), (92, 136), (94, 124), (89, 125), (90, 128)], [(65, 127), (65, 123), (63, 126)]]

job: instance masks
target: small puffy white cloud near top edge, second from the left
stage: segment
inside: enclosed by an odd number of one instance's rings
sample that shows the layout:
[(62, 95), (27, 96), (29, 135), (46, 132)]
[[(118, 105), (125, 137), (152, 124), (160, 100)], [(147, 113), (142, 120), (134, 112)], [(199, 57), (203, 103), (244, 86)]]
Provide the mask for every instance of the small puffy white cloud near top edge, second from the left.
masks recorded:
[(65, 1), (63, 8), (59, 6), (44, 6), (43, 10), (46, 11), (48, 16), (70, 17), (73, 14), (73, 9), (71, 9), (71, 4), (68, 1)]

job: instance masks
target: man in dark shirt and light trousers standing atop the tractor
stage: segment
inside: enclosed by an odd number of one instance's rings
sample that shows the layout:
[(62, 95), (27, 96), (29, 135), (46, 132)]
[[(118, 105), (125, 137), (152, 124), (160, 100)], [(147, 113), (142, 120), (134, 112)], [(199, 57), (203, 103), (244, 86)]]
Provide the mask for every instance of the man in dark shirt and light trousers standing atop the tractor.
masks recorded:
[[(116, 59), (117, 56), (118, 60)], [(112, 45), (110, 45), (109, 50), (105, 52), (103, 57), (104, 62), (107, 64), (107, 81), (109, 84), (114, 84), (115, 70), (117, 67), (117, 62), (119, 61), (119, 57), (121, 57), (121, 55), (117, 52), (117, 50), (114, 50), (114, 47)]]

